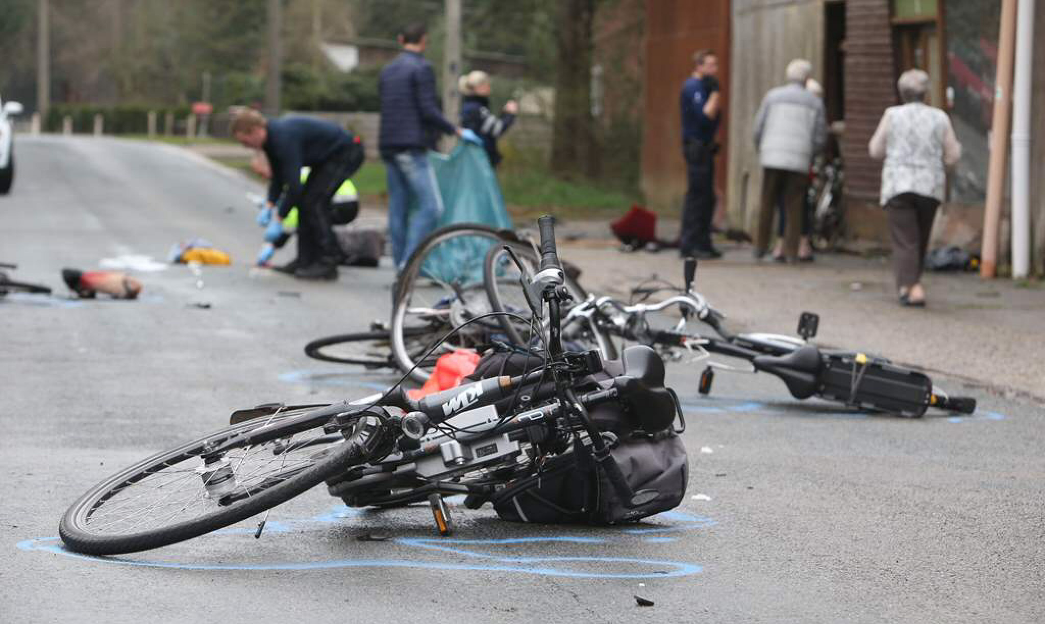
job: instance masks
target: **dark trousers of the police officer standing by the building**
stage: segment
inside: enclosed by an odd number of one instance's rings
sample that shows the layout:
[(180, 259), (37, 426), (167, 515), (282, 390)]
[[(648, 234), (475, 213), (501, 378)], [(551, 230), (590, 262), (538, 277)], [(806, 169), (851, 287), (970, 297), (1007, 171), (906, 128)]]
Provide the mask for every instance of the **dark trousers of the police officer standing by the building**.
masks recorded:
[(688, 256), (712, 248), (712, 219), (715, 217), (715, 151), (710, 144), (686, 141), (686, 202), (682, 205), (682, 225), (678, 250)]

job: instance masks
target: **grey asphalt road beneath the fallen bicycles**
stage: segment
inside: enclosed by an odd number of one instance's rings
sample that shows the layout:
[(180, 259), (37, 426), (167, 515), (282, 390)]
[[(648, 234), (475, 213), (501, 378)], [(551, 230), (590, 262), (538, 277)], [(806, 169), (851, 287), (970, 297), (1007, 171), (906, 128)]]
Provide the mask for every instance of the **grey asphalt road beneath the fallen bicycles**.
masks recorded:
[[(512, 525), (451, 500), (448, 541), (424, 506), (348, 509), (314, 490), (277, 507), (260, 541), (243, 523), (134, 555), (67, 553), (61, 514), (116, 470), (236, 408), (390, 383), (302, 346), (387, 317), (391, 272), (251, 271), (260, 231), (243, 193), (258, 188), (176, 148), (22, 138), (18, 176), (0, 197), (0, 262), (56, 294), (0, 301), (0, 621), (1045, 620), (1041, 405), (973, 389), (973, 416), (908, 421), (791, 401), (747, 375), (719, 375), (700, 399), (682, 364), (670, 381), (690, 489), (642, 525)], [(136, 272), (134, 302), (62, 286), (62, 268), (141, 266), (193, 237), (234, 265)]]

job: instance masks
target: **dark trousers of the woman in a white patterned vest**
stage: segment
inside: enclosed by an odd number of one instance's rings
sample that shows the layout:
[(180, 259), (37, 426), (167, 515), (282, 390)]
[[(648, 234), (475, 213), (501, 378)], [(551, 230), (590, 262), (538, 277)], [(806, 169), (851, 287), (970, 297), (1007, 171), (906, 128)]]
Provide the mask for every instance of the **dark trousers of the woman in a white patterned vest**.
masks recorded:
[(885, 203), (897, 288), (910, 288), (922, 281), (925, 253), (938, 206), (938, 200), (918, 193), (901, 193)]

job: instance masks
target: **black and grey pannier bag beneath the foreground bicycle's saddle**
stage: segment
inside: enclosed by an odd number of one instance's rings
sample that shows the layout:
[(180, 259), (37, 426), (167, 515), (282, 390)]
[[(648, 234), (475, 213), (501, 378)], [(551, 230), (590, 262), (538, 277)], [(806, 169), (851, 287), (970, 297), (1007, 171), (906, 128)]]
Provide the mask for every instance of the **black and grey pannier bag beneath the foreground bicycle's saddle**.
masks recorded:
[[(663, 385), (663, 362), (657, 359), (656, 363), (660, 366), (659, 385)], [(538, 358), (527, 360), (518, 354), (493, 352), (483, 356), (471, 378), (520, 375), (524, 369), (532, 370), (539, 365)], [(625, 373), (620, 361), (607, 361), (605, 368), (606, 371), (593, 376), (578, 391), (596, 389), (599, 382)], [(628, 506), (628, 501), (621, 500), (613, 488), (594, 450), (575, 440), (571, 451), (549, 458), (538, 474), (512, 482), (490, 497), (502, 520), (611, 525), (637, 522), (681, 503), (689, 464), (686, 447), (673, 423), (658, 431), (647, 431), (638, 423), (641, 414), (636, 418), (612, 402), (591, 408), (589, 415), (600, 430), (617, 436), (609, 458), (617, 461), (631, 490), (645, 490), (641, 499), (648, 500)]]

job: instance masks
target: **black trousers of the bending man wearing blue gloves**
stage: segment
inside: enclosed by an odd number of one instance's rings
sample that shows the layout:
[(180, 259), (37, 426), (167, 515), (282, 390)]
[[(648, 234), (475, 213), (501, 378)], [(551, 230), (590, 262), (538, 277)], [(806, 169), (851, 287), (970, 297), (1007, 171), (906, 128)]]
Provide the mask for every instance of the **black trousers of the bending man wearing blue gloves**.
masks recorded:
[(338, 264), (341, 250), (330, 229), (327, 207), (342, 183), (363, 166), (365, 158), (363, 144), (354, 143), (331, 154), (322, 165), (312, 167), (298, 203), (298, 262), (301, 266)]

